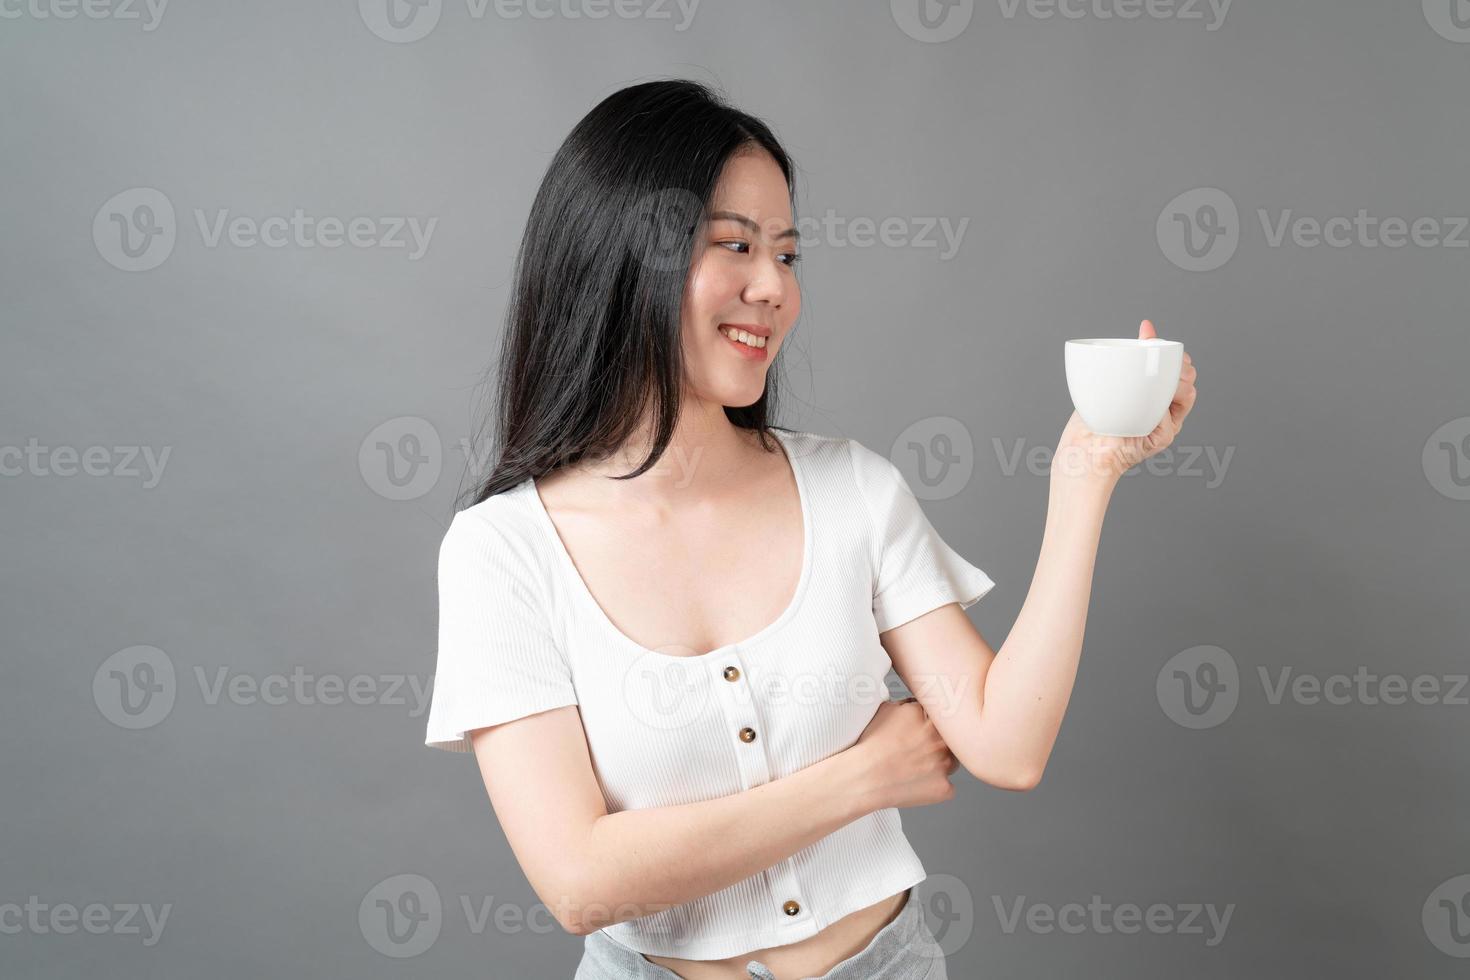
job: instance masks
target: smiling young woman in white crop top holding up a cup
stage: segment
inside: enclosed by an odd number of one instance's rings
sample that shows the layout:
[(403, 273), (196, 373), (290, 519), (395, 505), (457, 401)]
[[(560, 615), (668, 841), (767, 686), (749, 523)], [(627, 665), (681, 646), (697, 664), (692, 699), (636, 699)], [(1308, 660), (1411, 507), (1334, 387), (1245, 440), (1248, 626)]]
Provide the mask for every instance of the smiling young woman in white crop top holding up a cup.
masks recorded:
[(766, 125), (656, 81), (576, 125), (526, 225), (426, 743), (475, 754), (579, 980), (945, 977), (898, 808), (958, 765), (1041, 779), (1113, 488), (1195, 400), (1186, 356), (1150, 436), (1073, 414), (997, 654), (961, 611), (994, 583), (886, 455), (772, 425), (794, 213)]

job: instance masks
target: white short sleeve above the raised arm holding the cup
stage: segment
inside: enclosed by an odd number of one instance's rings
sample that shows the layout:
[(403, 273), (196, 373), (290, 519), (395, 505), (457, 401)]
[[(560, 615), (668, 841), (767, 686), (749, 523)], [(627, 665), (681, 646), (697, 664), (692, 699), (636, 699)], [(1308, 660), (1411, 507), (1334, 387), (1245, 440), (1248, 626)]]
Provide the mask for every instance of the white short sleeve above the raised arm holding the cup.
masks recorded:
[(939, 538), (903, 472), (886, 455), (848, 441), (872, 535), (873, 620), (882, 633), (950, 602), (969, 608), (995, 588), (985, 572)]

